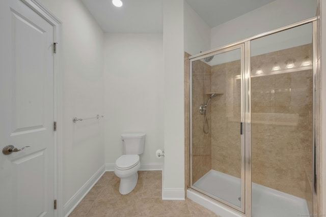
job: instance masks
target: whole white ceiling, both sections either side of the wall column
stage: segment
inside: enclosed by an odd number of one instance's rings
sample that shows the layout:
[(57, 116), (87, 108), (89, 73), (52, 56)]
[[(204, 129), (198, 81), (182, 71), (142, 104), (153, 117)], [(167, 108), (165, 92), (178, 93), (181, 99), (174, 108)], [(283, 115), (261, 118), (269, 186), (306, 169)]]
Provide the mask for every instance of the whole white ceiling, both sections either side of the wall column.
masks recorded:
[[(105, 33), (162, 33), (164, 0), (82, 0)], [(275, 0), (185, 0), (214, 27)]]

